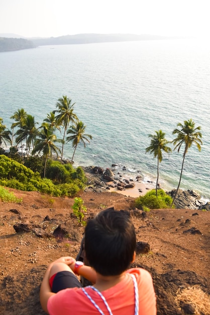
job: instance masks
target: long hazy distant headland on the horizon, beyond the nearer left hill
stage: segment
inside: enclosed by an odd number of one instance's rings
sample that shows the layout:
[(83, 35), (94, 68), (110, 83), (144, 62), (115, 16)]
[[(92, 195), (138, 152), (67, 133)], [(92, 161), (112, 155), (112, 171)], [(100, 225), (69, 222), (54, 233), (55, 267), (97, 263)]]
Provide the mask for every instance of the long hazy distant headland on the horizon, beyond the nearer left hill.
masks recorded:
[(33, 38), (36, 46), (43, 45), (69, 45), (69, 44), (90, 44), (106, 42), (123, 42), (138, 40), (158, 40), (168, 39), (168, 37), (156, 35), (135, 35), (135, 34), (77, 34), (50, 38)]

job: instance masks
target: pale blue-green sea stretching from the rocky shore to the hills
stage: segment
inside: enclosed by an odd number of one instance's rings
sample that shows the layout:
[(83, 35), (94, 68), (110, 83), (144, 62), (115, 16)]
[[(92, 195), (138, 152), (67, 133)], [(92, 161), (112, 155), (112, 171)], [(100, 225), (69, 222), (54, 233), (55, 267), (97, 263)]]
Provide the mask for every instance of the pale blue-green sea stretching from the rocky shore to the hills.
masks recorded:
[[(181, 189), (210, 199), (210, 43), (205, 39), (152, 40), (40, 46), (0, 53), (0, 117), (24, 108), (39, 126), (67, 96), (92, 135), (80, 143), (74, 166), (114, 167), (116, 173), (143, 182), (157, 178), (157, 159), (146, 153), (149, 134), (162, 130), (171, 141), (177, 123), (201, 126), (202, 146), (186, 154)], [(61, 135), (58, 133), (58, 137)], [(183, 149), (163, 153), (159, 182), (177, 188)], [(71, 159), (72, 144), (64, 146)]]

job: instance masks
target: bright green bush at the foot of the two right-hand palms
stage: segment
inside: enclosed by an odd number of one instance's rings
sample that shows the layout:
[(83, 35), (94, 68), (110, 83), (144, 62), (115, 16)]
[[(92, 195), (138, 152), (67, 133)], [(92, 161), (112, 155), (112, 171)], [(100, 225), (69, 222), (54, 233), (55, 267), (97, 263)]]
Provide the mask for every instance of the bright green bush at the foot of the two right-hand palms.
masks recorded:
[(144, 207), (149, 209), (165, 209), (170, 207), (171, 202), (172, 198), (164, 190), (158, 189), (156, 197), (156, 190), (152, 189), (144, 196), (136, 198), (135, 206), (142, 210), (144, 210)]

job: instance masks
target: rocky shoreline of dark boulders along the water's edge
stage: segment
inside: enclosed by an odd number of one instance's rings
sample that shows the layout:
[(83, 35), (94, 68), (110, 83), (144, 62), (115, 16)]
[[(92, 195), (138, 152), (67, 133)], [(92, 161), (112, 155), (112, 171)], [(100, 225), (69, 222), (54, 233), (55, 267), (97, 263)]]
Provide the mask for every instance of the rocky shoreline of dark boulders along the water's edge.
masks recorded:
[[(155, 188), (155, 183), (148, 182), (148, 185), (142, 182), (141, 175), (135, 179), (126, 178), (120, 172), (116, 173), (115, 166), (112, 169), (103, 169), (99, 166), (82, 167), (87, 177), (87, 187), (85, 191), (94, 191), (97, 193), (104, 191), (115, 191), (129, 195), (129, 189), (142, 184), (138, 188), (139, 195), (143, 195), (147, 190)], [(167, 192), (171, 197), (174, 196), (176, 189)], [(210, 211), (210, 202), (204, 202), (200, 195), (194, 190), (178, 190), (174, 205), (177, 209), (207, 210)]]

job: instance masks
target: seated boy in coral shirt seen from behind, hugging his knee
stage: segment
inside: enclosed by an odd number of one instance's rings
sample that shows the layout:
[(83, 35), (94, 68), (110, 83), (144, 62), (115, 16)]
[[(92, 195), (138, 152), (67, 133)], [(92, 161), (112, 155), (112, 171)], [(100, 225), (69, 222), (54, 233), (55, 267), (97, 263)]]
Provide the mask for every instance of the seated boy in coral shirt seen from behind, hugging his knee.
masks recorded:
[[(40, 302), (50, 315), (155, 315), (152, 277), (135, 260), (136, 233), (125, 211), (99, 212), (85, 227), (84, 250), (89, 266), (72, 257), (51, 263), (40, 288)], [(93, 286), (81, 287), (76, 275)]]

